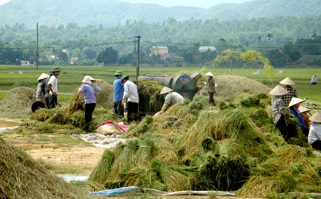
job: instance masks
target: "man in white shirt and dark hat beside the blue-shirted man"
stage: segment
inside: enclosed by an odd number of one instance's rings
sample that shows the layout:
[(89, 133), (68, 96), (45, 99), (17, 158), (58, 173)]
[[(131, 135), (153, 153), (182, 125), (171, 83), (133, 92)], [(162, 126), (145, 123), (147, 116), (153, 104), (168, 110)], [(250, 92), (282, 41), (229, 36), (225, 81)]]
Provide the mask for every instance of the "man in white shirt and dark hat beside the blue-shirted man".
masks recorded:
[(129, 76), (123, 75), (121, 77), (121, 83), (124, 83), (124, 96), (121, 102), (124, 107), (125, 99), (128, 101), (127, 107), (127, 119), (128, 124), (130, 125), (133, 120), (136, 121), (136, 124), (139, 123), (139, 98), (138, 98), (138, 90), (137, 85), (129, 80)]

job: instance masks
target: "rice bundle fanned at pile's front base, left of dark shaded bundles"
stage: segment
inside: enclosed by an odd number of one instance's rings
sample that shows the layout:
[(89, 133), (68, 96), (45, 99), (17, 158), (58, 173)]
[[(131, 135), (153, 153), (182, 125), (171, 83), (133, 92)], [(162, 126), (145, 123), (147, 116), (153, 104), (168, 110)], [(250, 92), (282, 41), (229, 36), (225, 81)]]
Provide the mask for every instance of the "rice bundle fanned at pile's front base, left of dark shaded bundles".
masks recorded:
[(197, 178), (195, 167), (191, 166), (166, 165), (154, 159), (151, 168), (160, 176), (169, 192), (190, 190), (190, 184)]

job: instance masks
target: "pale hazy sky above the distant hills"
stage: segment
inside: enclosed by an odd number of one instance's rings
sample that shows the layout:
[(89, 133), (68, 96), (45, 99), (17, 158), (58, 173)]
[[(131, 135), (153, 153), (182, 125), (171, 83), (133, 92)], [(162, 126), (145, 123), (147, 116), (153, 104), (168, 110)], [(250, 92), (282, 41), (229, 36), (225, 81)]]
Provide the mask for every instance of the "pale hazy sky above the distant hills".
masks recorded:
[[(10, 0), (0, 0), (0, 5)], [(209, 8), (218, 3), (243, 3), (249, 0), (122, 0), (130, 3), (154, 3), (165, 7), (176, 5)]]

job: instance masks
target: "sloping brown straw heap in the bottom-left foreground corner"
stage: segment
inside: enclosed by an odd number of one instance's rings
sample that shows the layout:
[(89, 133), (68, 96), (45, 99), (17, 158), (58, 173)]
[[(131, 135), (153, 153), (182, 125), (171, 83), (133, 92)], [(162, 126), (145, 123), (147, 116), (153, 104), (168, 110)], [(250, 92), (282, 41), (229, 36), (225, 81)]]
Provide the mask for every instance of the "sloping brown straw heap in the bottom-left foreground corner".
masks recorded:
[(1, 199), (93, 198), (88, 191), (65, 182), (23, 150), (2, 138), (0, 138), (0, 173)]

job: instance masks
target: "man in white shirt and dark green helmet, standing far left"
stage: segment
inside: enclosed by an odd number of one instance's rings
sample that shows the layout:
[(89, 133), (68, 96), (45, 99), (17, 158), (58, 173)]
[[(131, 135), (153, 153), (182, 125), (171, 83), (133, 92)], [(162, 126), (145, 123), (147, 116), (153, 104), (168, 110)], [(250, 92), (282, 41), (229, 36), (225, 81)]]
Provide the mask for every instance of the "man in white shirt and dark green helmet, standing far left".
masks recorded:
[(50, 92), (49, 92), (49, 108), (52, 109), (56, 107), (57, 104), (57, 95), (58, 95), (58, 76), (60, 74), (60, 68), (54, 67), (52, 72), (54, 73), (47, 84)]

